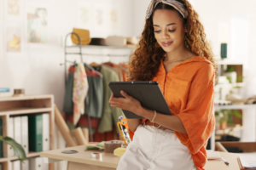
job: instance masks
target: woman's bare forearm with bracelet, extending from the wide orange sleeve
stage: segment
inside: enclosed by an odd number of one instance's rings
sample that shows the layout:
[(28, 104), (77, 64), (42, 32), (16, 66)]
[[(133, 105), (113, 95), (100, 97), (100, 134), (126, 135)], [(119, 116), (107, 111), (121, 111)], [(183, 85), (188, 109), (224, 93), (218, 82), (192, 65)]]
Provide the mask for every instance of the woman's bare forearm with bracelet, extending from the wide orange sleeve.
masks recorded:
[[(150, 111), (142, 107), (140, 109), (140, 116), (143, 116), (151, 121), (154, 117), (154, 111)], [(183, 125), (183, 122), (180, 120), (178, 116), (169, 116), (169, 115), (157, 113), (154, 118), (154, 122), (157, 124), (160, 124), (163, 127), (170, 128), (173, 131), (176, 131), (179, 133), (187, 133)]]

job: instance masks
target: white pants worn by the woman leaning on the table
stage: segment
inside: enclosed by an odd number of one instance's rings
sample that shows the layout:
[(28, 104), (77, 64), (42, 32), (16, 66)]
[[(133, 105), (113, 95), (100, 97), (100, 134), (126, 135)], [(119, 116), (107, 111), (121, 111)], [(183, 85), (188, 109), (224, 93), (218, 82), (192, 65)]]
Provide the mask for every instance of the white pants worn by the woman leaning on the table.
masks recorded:
[(186, 145), (172, 130), (139, 125), (117, 170), (196, 170)]

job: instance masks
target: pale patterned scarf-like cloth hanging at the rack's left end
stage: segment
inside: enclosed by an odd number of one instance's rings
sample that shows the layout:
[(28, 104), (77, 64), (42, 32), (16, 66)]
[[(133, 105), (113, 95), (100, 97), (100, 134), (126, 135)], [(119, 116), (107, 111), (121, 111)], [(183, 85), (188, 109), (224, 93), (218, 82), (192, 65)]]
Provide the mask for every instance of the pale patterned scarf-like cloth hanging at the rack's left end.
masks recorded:
[(73, 124), (79, 122), (81, 115), (84, 115), (84, 99), (88, 92), (88, 80), (84, 64), (79, 63), (74, 72), (73, 78)]

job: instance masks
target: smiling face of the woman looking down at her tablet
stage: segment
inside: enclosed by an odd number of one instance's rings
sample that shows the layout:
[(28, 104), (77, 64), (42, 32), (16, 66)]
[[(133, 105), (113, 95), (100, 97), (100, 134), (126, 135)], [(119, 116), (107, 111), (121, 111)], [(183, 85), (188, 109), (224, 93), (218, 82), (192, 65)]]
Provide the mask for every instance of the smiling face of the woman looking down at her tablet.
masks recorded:
[(185, 48), (183, 18), (177, 11), (157, 9), (153, 16), (154, 37), (166, 53)]

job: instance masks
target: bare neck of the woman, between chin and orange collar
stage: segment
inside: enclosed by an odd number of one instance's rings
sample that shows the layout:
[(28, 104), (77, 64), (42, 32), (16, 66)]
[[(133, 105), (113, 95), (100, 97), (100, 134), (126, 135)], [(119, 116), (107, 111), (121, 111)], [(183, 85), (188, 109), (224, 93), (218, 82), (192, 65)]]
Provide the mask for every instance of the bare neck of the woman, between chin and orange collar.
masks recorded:
[(178, 59), (187, 59), (191, 57), (191, 52), (186, 47), (176, 48), (172, 52), (166, 53), (166, 60), (178, 60)]

